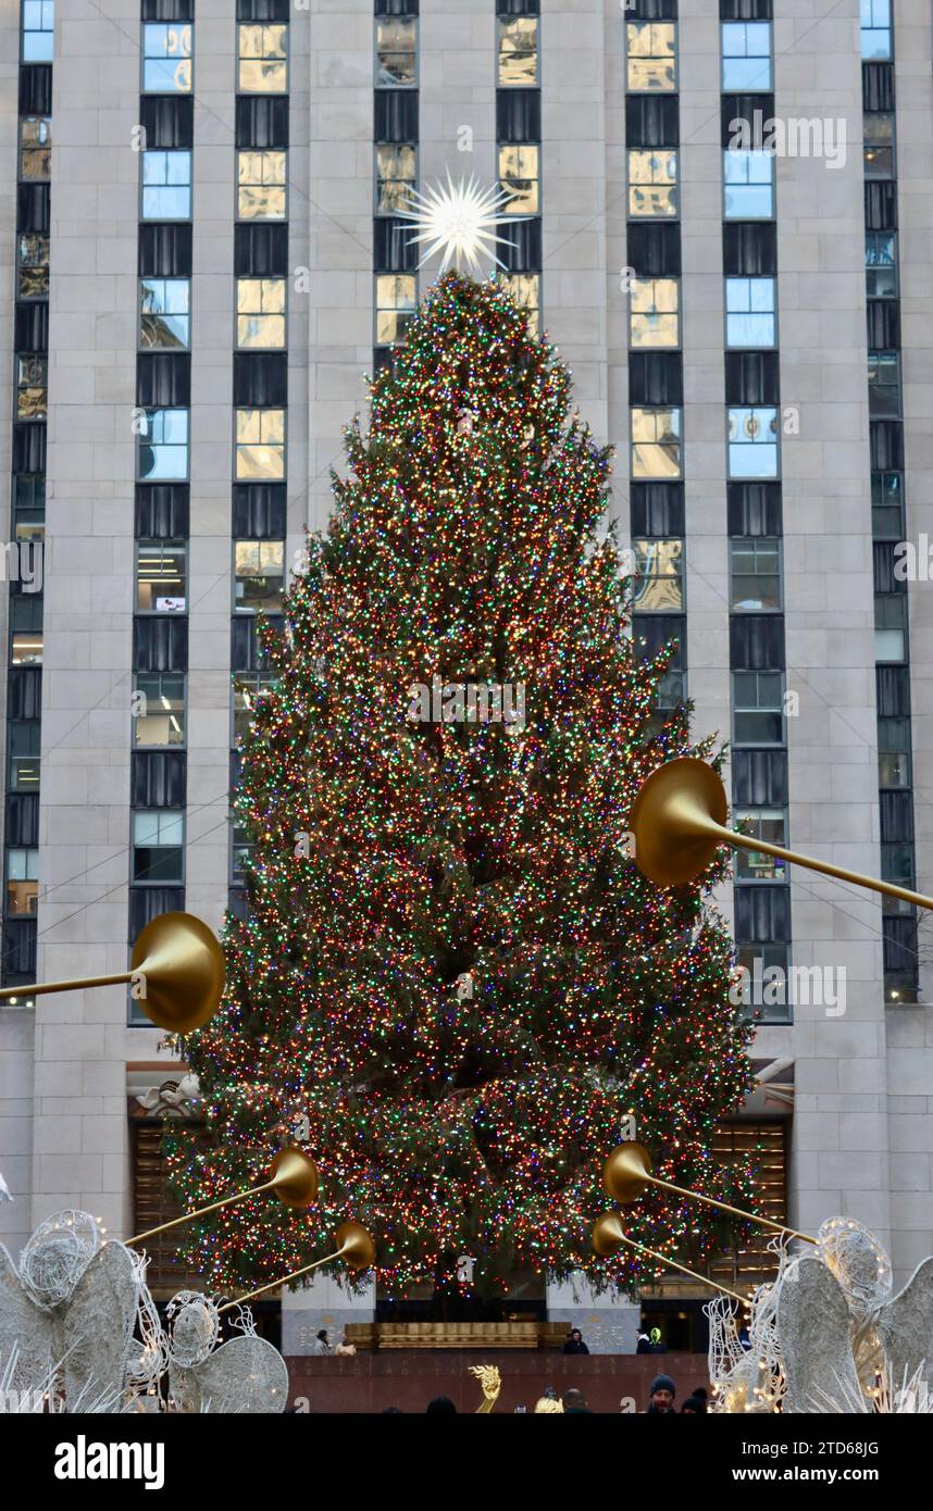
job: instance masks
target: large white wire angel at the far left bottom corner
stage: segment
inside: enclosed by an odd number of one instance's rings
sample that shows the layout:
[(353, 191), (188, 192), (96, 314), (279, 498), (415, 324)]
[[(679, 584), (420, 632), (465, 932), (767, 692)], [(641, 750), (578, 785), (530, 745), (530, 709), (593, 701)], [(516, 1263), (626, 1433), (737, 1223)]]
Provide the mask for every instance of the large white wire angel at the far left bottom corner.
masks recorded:
[(17, 1390), (48, 1390), (67, 1411), (77, 1401), (110, 1411), (157, 1381), (160, 1339), (145, 1259), (104, 1242), (88, 1212), (41, 1222), (18, 1268), (0, 1245), (0, 1357), (15, 1354)]

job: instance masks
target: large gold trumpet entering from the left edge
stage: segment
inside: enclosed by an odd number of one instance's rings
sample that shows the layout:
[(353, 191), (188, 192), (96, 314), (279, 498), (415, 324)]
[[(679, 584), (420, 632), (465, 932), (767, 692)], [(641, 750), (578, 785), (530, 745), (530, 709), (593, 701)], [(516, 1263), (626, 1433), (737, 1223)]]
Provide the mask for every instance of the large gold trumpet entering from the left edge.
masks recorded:
[(147, 923), (133, 946), (130, 970), (79, 981), (44, 981), (36, 987), (5, 987), (0, 1002), (26, 994), (77, 991), (82, 987), (139, 985), (139, 1003), (156, 1027), (191, 1034), (204, 1027), (224, 991), (224, 952), (192, 913), (163, 913)]

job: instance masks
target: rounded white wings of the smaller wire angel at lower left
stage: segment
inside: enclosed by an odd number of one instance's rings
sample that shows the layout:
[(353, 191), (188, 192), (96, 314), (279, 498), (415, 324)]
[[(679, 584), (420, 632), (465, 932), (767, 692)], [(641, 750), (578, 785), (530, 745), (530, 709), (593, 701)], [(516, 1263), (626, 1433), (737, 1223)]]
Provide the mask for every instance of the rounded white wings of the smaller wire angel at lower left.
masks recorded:
[(169, 1387), (183, 1411), (275, 1414), (287, 1405), (289, 1370), (263, 1337), (233, 1337), (194, 1369), (169, 1363)]

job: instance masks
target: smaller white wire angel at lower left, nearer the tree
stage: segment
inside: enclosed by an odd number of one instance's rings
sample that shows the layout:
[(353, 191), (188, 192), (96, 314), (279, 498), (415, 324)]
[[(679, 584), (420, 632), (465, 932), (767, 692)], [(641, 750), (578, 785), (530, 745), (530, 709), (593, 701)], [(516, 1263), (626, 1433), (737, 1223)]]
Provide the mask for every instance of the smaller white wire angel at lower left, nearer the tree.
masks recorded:
[[(168, 1378), (177, 1411), (274, 1414), (289, 1399), (289, 1370), (272, 1343), (257, 1337), (248, 1307), (237, 1309), (240, 1337), (221, 1343), (216, 1301), (195, 1290), (180, 1290), (166, 1307)], [(169, 1405), (171, 1410), (171, 1405)]]

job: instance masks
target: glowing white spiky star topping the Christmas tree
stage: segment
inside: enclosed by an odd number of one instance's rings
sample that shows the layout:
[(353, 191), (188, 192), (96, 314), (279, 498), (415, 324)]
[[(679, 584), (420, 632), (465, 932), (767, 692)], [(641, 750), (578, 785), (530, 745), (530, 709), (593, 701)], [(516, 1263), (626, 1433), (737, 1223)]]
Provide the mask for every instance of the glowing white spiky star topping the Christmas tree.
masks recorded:
[(451, 264), (458, 272), (463, 272), (464, 267), (479, 272), (479, 257), (484, 254), (490, 255), (499, 267), (505, 267), (505, 263), (496, 257), (496, 242), (502, 240), (507, 246), (514, 246), (514, 242), (497, 237), (496, 227), (507, 222), (514, 225), (516, 219), (528, 219), (528, 216), (516, 218), (499, 213), (513, 198), (505, 189), (484, 189), (475, 174), (455, 184), (449, 169), (446, 186), (432, 186), (425, 193), (411, 189), (408, 193), (411, 209), (398, 213), (414, 222), (419, 234), (413, 236), (411, 240), (428, 243), (417, 266), (423, 267), (428, 258), (443, 248), (442, 273)]

